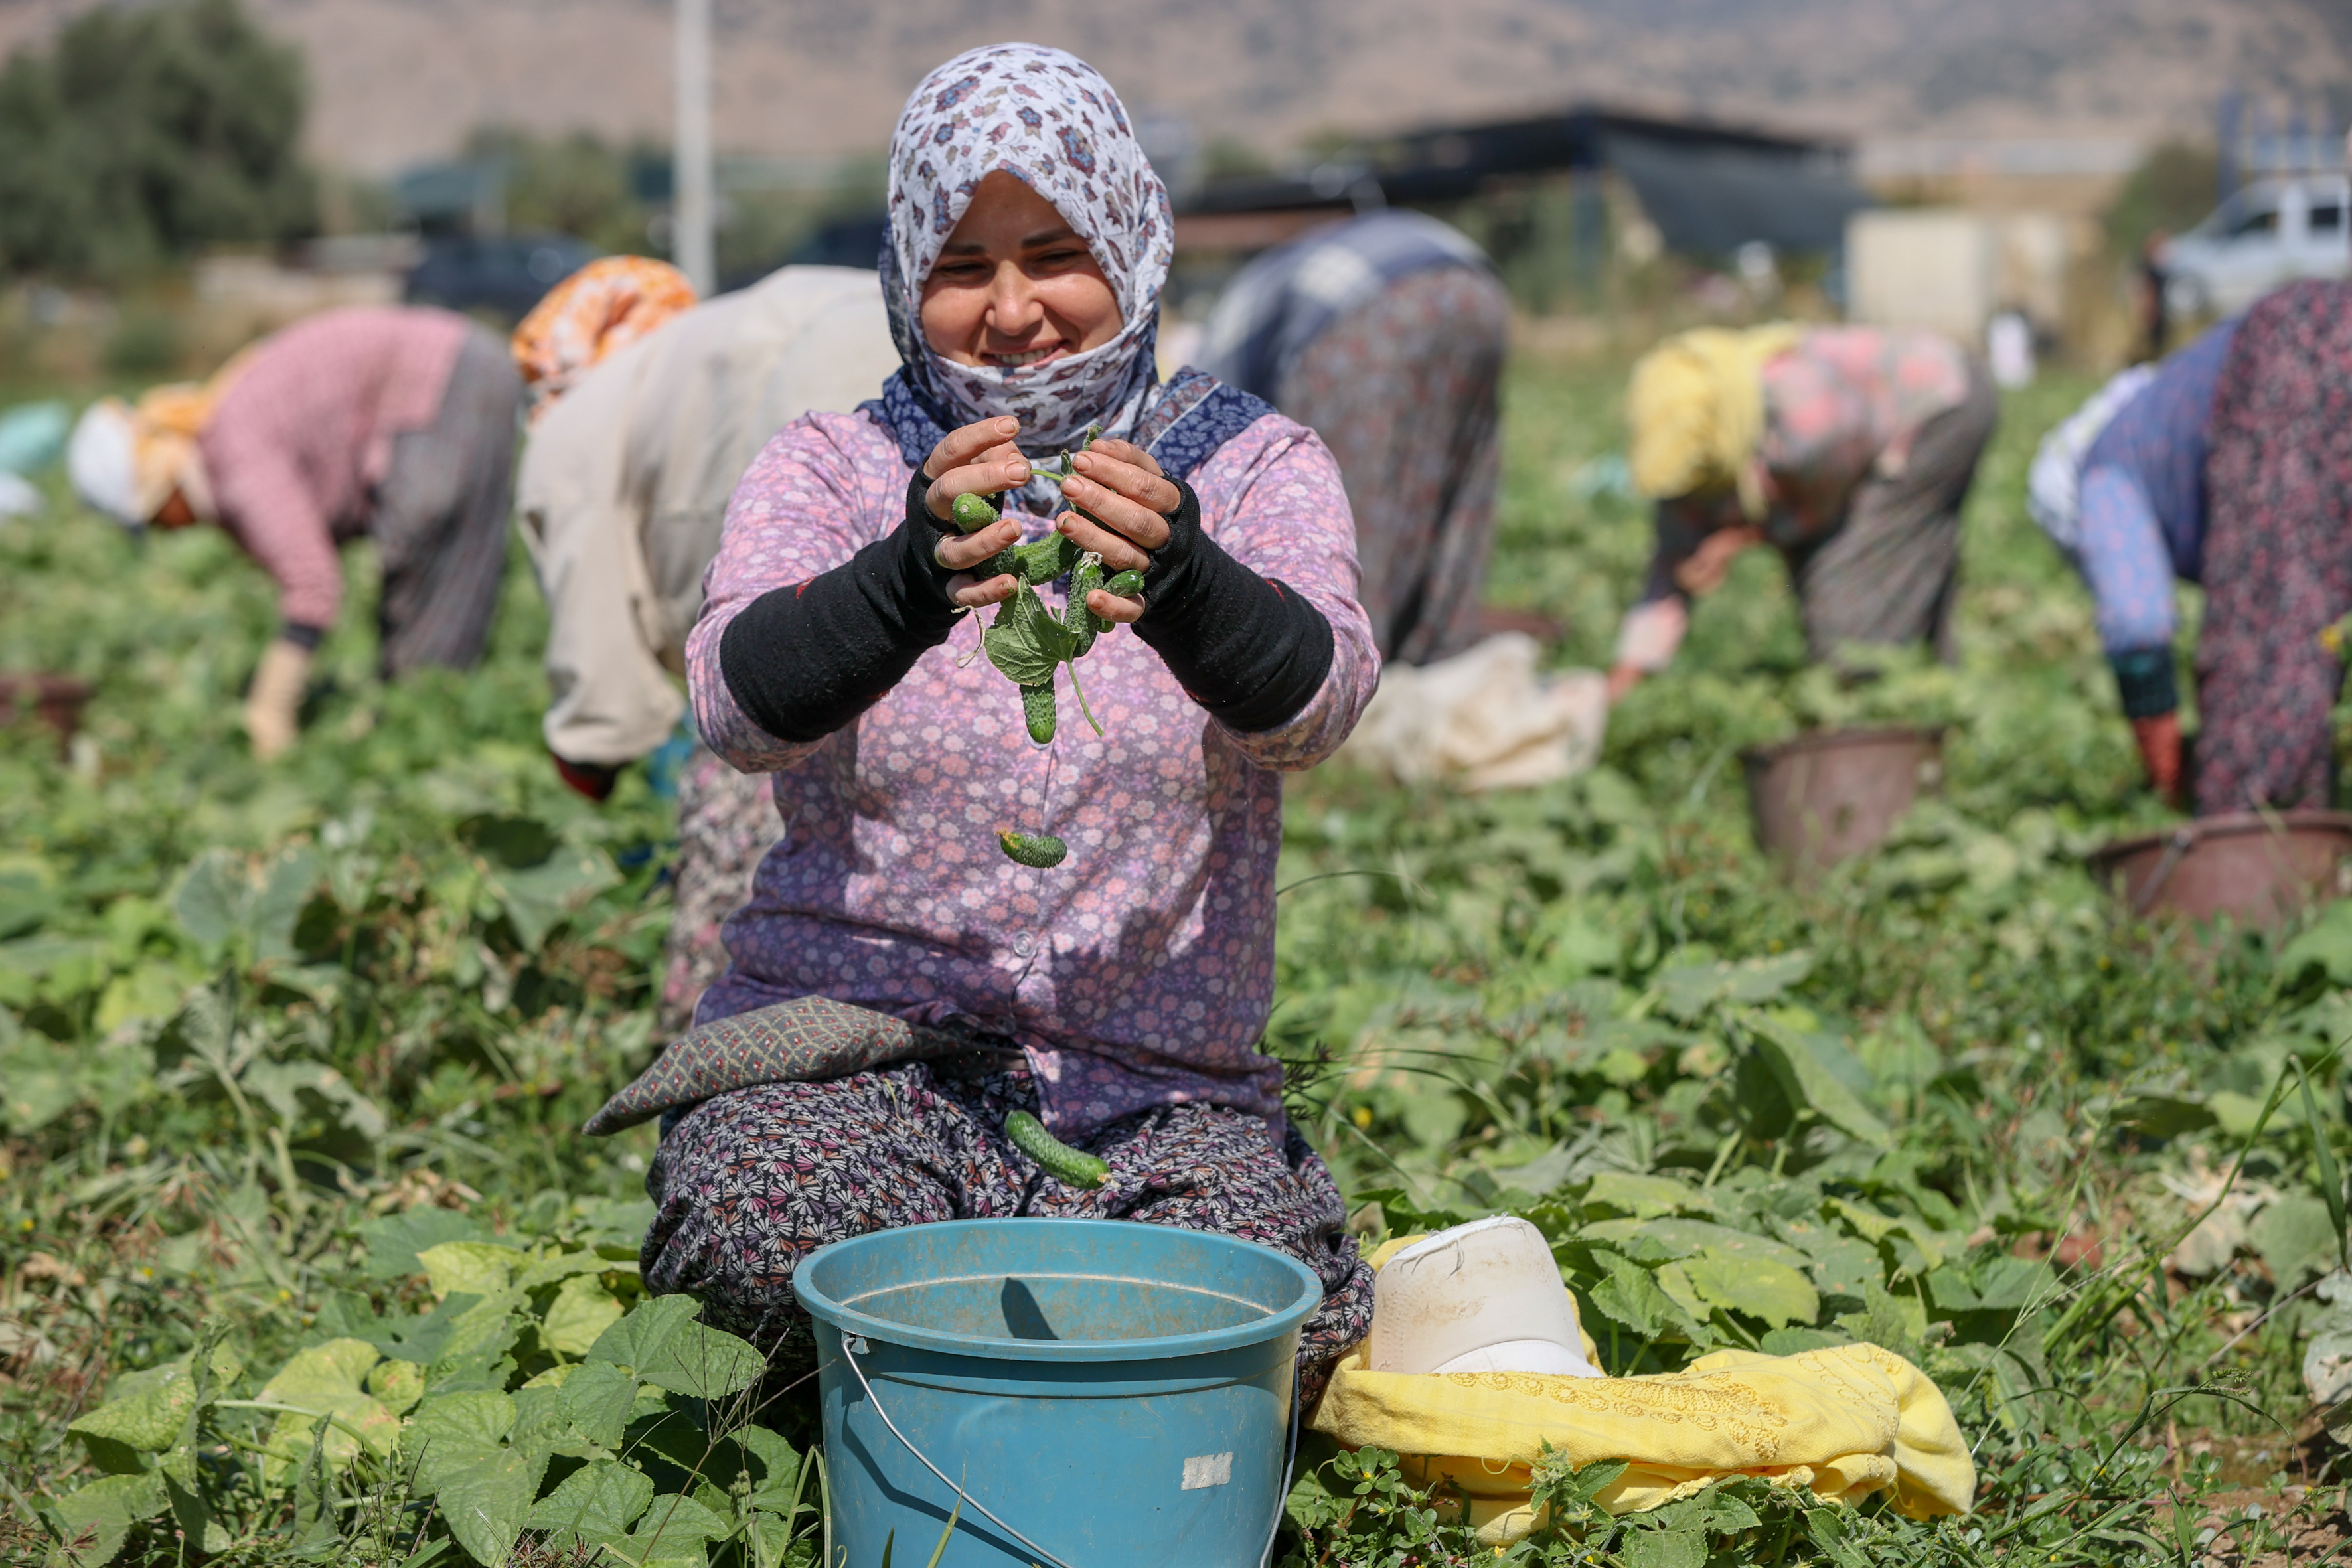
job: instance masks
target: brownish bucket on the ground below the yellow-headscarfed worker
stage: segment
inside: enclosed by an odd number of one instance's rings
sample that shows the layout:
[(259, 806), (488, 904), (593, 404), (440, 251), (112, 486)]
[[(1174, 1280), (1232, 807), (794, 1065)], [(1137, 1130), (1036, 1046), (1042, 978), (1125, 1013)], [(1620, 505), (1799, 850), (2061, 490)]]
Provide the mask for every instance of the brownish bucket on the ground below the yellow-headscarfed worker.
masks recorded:
[(1823, 729), (1740, 752), (1757, 849), (1790, 877), (1875, 849), (1943, 785), (1940, 729)]

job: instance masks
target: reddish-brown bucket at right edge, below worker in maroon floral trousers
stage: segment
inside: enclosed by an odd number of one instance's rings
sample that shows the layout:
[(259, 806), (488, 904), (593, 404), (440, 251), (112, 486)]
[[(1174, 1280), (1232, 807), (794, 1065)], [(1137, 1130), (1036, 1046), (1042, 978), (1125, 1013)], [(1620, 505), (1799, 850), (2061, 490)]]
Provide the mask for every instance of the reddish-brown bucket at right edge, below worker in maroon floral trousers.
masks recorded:
[(2136, 919), (2227, 914), (2270, 929), (2333, 898), (2336, 863), (2347, 853), (2352, 813), (2239, 811), (2117, 839), (2091, 856), (2091, 875)]

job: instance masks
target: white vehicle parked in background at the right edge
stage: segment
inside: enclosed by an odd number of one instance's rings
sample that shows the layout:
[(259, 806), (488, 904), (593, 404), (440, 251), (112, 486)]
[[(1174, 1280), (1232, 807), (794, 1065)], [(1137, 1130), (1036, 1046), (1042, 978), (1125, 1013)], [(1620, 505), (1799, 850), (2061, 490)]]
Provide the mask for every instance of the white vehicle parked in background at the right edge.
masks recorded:
[(2237, 315), (2293, 277), (2352, 277), (2340, 174), (2253, 181), (2157, 249), (2171, 315)]

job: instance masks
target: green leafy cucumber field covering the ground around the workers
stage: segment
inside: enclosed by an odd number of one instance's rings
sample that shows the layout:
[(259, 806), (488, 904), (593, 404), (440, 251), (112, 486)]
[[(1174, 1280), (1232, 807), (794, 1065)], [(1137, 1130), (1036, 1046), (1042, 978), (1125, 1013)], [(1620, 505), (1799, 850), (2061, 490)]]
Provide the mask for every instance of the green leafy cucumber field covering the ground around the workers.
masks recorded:
[[(1649, 559), (1609, 463), (1625, 369), (1505, 383), (1489, 602), (1559, 623), (1557, 665), (1606, 663)], [(1740, 1476), (1609, 1519), (1562, 1467), (1496, 1549), (1397, 1455), (1310, 1439), (1275, 1561), (2352, 1559), (2352, 1403), (2321, 1403), (2352, 1399), (2352, 903), (2197, 936), (2086, 870), (2171, 820), (2025, 515), (2091, 386), (2004, 397), (1955, 668), (1809, 670), (1757, 550), (1595, 771), (1472, 797), (1324, 766), (1284, 806), (1265, 1048), (1367, 1251), (1529, 1218), (1611, 1375), (1893, 1349), (1973, 1443), (1976, 1509)], [(550, 766), (520, 545), (485, 665), (397, 686), (348, 552), (263, 766), (266, 578), (219, 529), (45, 494), (0, 520), (0, 670), (96, 696), (68, 745), (0, 743), (0, 1561), (833, 1568), (809, 1389), (642, 1293), (654, 1128), (579, 1131), (661, 1044), (675, 809), (644, 769), (595, 806)], [(1940, 792), (1790, 886), (1740, 752), (1877, 722), (1945, 726)]]

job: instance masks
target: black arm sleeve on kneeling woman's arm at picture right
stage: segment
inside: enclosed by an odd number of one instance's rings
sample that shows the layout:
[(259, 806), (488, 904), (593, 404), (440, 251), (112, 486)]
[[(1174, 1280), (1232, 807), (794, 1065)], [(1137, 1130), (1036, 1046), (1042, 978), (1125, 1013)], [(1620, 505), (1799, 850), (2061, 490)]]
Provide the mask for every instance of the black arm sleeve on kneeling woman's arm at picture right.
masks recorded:
[(1200, 529), (1200, 496), (1181, 480), (1176, 489), (1183, 501), (1143, 574), (1136, 635), (1228, 729), (1287, 724), (1331, 672), (1331, 623), (1298, 592), (1225, 555)]

